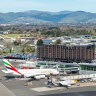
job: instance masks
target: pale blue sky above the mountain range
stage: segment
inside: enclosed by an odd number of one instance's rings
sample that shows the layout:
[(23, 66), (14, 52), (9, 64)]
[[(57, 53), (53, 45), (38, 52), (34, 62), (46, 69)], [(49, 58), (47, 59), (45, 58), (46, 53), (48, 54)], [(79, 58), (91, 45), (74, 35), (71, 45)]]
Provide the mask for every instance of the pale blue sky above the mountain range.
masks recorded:
[(96, 0), (0, 0), (0, 12), (86, 11), (96, 13)]

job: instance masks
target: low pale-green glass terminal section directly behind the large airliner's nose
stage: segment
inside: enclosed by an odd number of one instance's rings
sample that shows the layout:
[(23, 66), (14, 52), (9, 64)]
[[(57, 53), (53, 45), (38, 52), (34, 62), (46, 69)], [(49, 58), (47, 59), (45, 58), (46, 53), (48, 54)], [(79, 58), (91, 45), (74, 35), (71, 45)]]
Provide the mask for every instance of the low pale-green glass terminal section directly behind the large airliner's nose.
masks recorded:
[(59, 71), (79, 71), (79, 65), (73, 63), (38, 61), (37, 64), (47, 68), (58, 68)]

